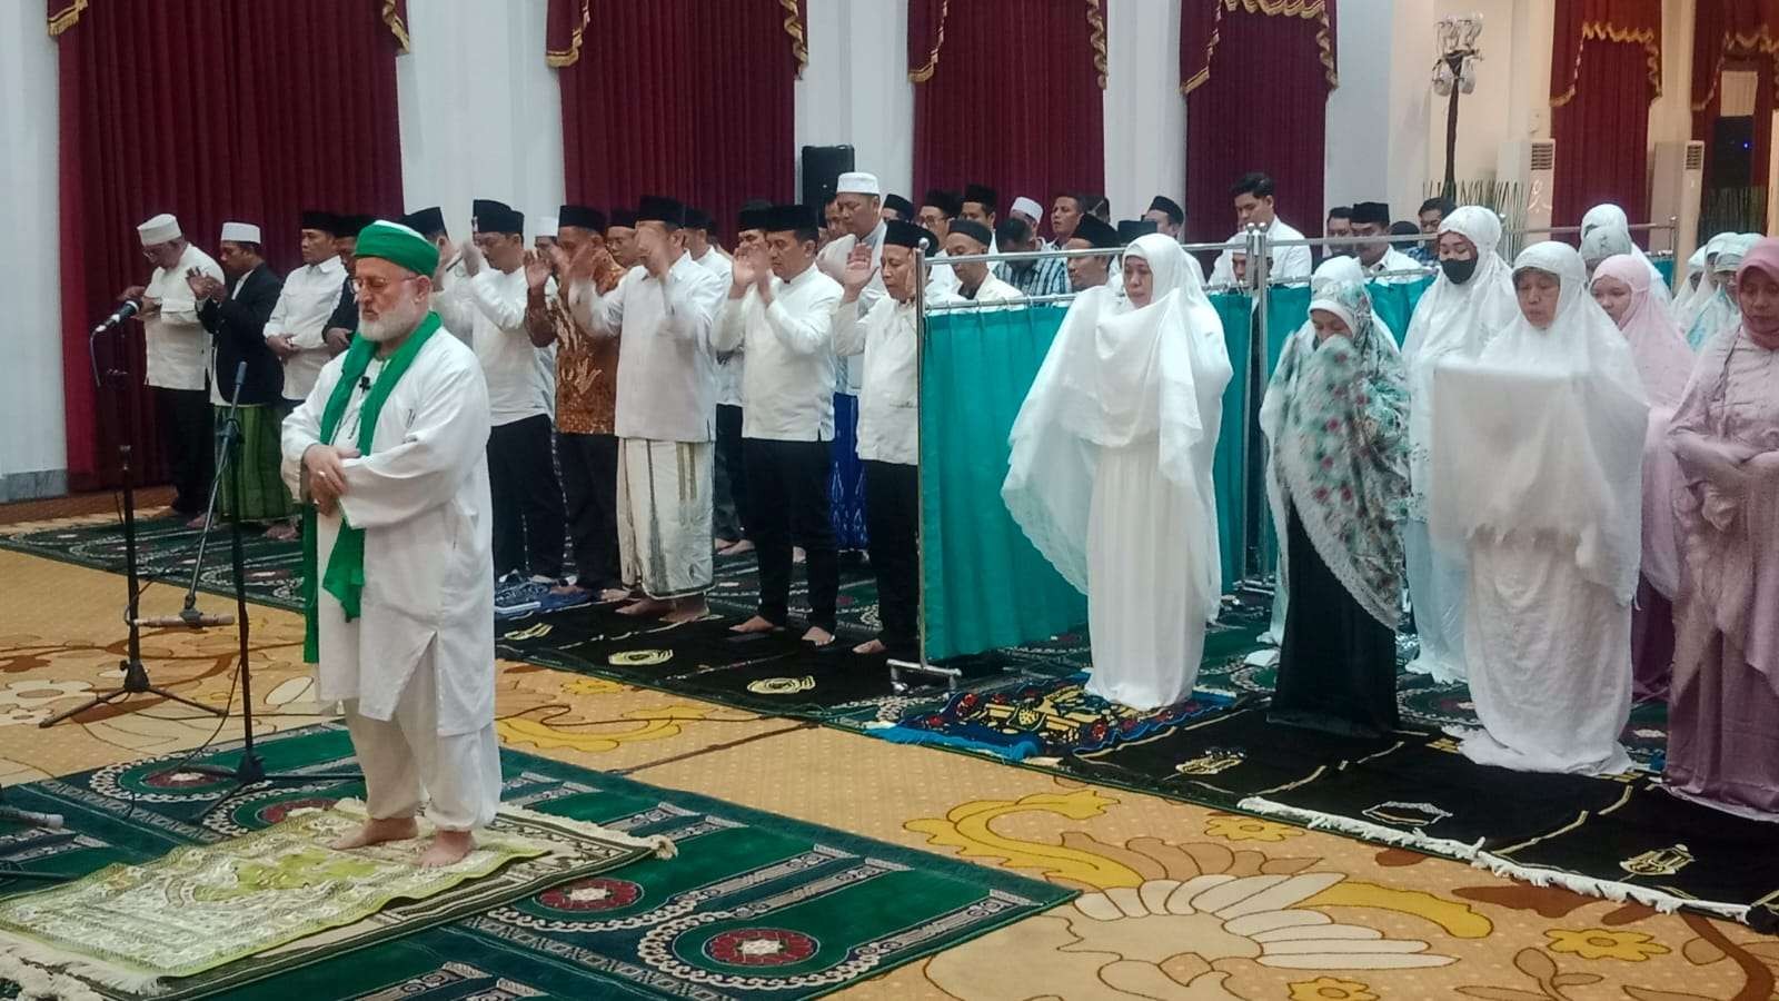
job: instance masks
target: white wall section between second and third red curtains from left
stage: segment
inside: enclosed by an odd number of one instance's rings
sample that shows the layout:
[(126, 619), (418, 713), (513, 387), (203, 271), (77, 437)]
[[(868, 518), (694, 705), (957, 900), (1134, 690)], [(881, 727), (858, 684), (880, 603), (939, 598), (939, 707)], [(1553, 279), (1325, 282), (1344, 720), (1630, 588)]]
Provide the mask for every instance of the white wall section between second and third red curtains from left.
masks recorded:
[[(884, 192), (920, 203), (914, 187), (914, 84), (907, 80), (907, 0), (809, 0), (809, 64), (797, 80), (793, 137), (852, 146)], [(802, 192), (799, 164), (797, 191)]]

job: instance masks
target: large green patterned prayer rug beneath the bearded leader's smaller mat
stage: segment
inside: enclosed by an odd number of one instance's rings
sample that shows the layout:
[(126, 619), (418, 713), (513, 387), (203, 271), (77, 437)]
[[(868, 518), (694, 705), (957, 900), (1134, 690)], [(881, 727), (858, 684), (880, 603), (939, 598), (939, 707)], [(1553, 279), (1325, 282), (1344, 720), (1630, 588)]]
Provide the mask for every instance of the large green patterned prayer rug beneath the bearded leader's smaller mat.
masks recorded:
[[(228, 748), (235, 750), (235, 748)], [(265, 737), (274, 771), (329, 771), (350, 761), (334, 725)], [(228, 761), (229, 753), (219, 753)], [(253, 787), (169, 768), (178, 757), (12, 785), (9, 805), (59, 812), (68, 830), (0, 828), (0, 866), (84, 876), (215, 844), (329, 807), (361, 784)], [(776, 997), (827, 994), (1019, 921), (1073, 891), (502, 750), (503, 807), (525, 818), (600, 825), (669, 839), (674, 859), (564, 875), (502, 903), (452, 908), (445, 923), (398, 937), (336, 944), (331, 935), (174, 981), (160, 997)], [(543, 823), (543, 821), (539, 821)], [(514, 862), (518, 871), (532, 862)], [(491, 878), (500, 878), (496, 873)], [(473, 887), (475, 883), (464, 883)], [(5, 880), (0, 892), (37, 885)], [(443, 894), (450, 896), (450, 894)], [(439, 899), (439, 898), (432, 898)], [(386, 912), (384, 912), (386, 914)], [(413, 928), (413, 926), (409, 926)], [(304, 949), (301, 946), (315, 944)], [(350, 951), (347, 951), (350, 949)], [(254, 962), (254, 960), (246, 960)], [(107, 997), (141, 994), (105, 987)]]

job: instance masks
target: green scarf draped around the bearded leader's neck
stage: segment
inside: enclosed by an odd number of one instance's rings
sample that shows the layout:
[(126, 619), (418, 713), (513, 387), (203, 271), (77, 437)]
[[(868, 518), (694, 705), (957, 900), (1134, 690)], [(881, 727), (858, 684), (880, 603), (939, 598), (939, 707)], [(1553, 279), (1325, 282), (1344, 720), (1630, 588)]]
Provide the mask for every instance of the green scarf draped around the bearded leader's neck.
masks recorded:
[[(420, 321), (420, 328), (395, 349), (390, 362), (377, 372), (377, 381), (365, 394), (365, 406), (358, 415), (358, 454), (370, 454), (382, 403), (390, 399), (395, 383), (407, 374), (407, 367), (415, 363), (415, 356), (420, 354), (420, 349), (427, 346), (427, 340), (438, 330), (439, 315), (427, 313), (427, 319)], [(324, 444), (333, 442), (334, 429), (340, 427), (340, 420), (345, 417), (345, 406), (352, 401), (352, 387), (365, 376), (365, 369), (370, 367), (370, 358), (375, 353), (375, 342), (358, 335), (352, 337), (352, 346), (347, 347), (345, 362), (340, 365), (340, 381), (334, 383), (333, 394), (327, 397), (327, 406), (322, 410), (320, 440)], [(320, 620), (317, 618), (320, 591), (327, 591), (340, 600), (347, 622), (358, 618), (359, 597), (365, 591), (365, 529), (354, 529), (352, 522), (342, 511), (340, 536), (334, 538), (333, 552), (327, 556), (327, 577), (320, 581), (317, 581), (320, 566), (317, 547), (315, 506), (308, 504), (302, 509), (302, 661), (310, 664), (320, 659)]]

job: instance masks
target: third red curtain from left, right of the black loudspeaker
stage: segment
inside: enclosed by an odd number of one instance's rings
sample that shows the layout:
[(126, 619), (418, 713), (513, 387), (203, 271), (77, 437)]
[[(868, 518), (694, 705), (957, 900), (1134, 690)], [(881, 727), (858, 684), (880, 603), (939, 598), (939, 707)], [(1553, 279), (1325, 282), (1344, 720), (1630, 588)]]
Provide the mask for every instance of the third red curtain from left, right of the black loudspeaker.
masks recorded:
[[(1000, 217), (1021, 194), (1105, 191), (1107, 28), (1101, 0), (909, 0), (914, 191), (986, 183)], [(1042, 39), (1055, 59), (1025, 59)], [(870, 164), (861, 164), (870, 169)], [(1146, 205), (1114, 205), (1130, 217)]]

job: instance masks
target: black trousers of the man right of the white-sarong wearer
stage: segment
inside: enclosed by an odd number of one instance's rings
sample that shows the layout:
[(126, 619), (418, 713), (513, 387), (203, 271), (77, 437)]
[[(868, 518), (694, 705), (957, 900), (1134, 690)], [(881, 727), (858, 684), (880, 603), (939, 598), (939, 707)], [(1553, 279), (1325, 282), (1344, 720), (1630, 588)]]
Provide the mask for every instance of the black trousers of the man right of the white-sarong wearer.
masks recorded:
[(809, 625), (834, 631), (840, 600), (840, 552), (827, 515), (833, 442), (742, 442), (754, 522), (747, 525), (760, 554), (760, 618), (790, 618), (792, 545), (804, 550), (809, 574)]

